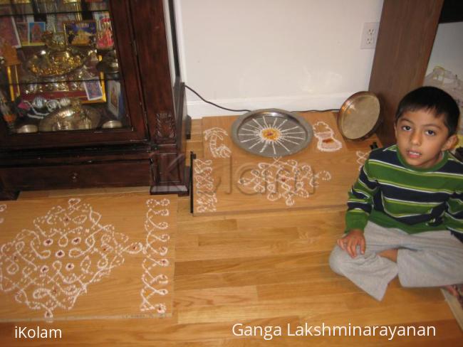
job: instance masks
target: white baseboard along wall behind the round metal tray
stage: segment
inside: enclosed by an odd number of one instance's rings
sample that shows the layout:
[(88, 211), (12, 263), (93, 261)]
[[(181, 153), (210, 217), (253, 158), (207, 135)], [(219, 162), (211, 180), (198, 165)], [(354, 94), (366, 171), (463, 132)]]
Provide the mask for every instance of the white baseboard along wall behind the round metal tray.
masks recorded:
[[(222, 107), (234, 110), (258, 110), (263, 108), (279, 108), (286, 111), (303, 111), (303, 110), (328, 110), (338, 109), (343, 102), (353, 95), (354, 92), (326, 94), (326, 95), (303, 95), (290, 97), (259, 97), (249, 99), (224, 99), (209, 100)], [(196, 98), (196, 100), (192, 100)], [(188, 101), (192, 100), (192, 101)], [(187, 91), (187, 110), (189, 116), (193, 119), (200, 119), (206, 116), (220, 116), (230, 114), (244, 114), (244, 112), (231, 112), (222, 110), (219, 107), (210, 105), (197, 97), (190, 91)]]

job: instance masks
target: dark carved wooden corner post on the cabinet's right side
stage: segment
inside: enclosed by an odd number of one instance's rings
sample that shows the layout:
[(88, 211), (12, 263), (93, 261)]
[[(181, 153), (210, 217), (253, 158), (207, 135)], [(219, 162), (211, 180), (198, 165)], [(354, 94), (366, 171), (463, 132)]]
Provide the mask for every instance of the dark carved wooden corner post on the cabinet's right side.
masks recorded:
[[(134, 47), (138, 56), (145, 114), (150, 142), (155, 149), (152, 155), (152, 172), (155, 186), (152, 193), (185, 193), (189, 186), (185, 175), (185, 157), (182, 151), (182, 129), (186, 115), (184, 85), (170, 70), (164, 1), (131, 1), (136, 33)], [(166, 12), (169, 13), (169, 12)], [(175, 80), (175, 85), (172, 81)], [(183, 90), (182, 90), (183, 89)]]

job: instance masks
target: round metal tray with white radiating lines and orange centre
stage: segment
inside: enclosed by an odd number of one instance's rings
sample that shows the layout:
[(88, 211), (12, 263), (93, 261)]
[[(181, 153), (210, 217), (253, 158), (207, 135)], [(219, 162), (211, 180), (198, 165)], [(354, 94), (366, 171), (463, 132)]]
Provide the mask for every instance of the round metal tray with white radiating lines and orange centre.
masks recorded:
[(231, 127), (234, 143), (258, 156), (288, 156), (306, 148), (313, 137), (310, 124), (301, 116), (279, 109), (241, 115)]

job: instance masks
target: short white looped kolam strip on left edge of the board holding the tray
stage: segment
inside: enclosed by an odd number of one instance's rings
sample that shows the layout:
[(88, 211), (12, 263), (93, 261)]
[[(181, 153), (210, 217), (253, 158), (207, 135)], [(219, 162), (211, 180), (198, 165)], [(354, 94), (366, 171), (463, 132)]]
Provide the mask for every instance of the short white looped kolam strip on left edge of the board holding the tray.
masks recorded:
[(194, 203), (197, 212), (214, 212), (217, 210), (217, 194), (212, 176), (212, 160), (194, 159)]

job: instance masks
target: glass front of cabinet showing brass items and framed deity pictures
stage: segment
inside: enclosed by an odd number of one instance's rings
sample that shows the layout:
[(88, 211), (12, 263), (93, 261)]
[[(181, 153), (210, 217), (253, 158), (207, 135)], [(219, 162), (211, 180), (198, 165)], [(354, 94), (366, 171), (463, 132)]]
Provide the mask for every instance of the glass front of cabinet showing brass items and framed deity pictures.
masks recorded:
[(21, 136), (35, 142), (31, 134), (41, 141), (116, 142), (135, 132), (132, 137), (142, 139), (143, 129), (134, 130), (130, 117), (109, 2), (0, 0), (6, 136), (18, 144)]

